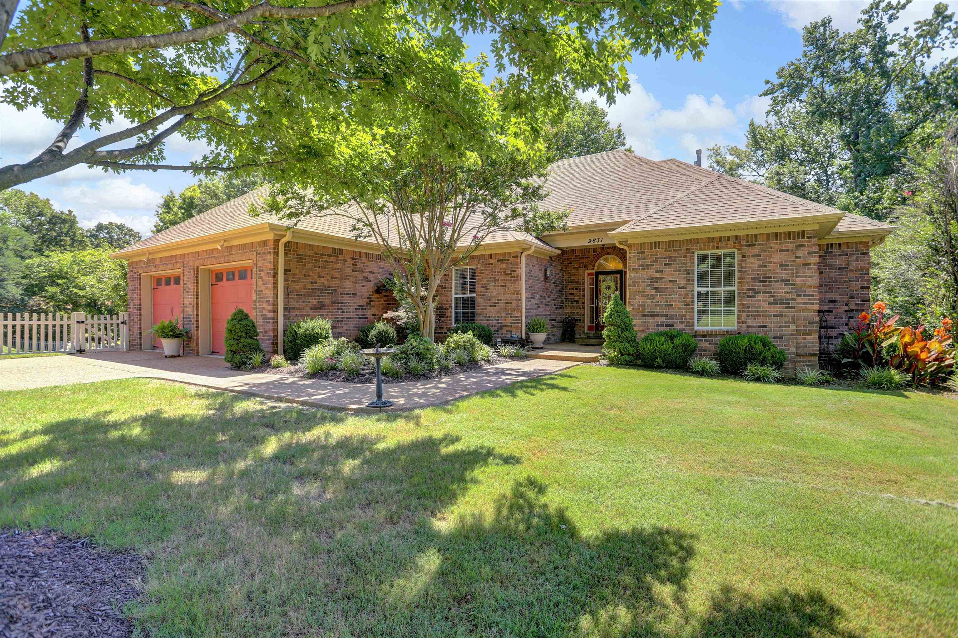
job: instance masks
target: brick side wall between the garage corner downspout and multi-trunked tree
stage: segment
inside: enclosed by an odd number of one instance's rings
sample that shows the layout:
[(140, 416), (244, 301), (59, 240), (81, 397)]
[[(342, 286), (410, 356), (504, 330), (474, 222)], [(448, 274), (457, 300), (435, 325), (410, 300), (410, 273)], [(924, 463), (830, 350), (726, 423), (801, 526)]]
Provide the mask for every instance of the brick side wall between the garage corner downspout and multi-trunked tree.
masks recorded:
[(382, 256), (289, 241), (285, 244), (285, 323), (306, 317), (332, 322), (336, 337), (355, 339), (359, 329), (397, 307), (391, 290), (377, 287), (392, 274)]

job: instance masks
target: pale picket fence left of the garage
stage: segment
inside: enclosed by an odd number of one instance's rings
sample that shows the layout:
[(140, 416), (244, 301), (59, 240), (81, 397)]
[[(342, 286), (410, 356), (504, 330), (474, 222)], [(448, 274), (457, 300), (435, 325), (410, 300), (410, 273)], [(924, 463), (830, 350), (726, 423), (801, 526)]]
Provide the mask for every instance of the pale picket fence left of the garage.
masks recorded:
[(129, 350), (128, 312), (0, 313), (0, 356)]

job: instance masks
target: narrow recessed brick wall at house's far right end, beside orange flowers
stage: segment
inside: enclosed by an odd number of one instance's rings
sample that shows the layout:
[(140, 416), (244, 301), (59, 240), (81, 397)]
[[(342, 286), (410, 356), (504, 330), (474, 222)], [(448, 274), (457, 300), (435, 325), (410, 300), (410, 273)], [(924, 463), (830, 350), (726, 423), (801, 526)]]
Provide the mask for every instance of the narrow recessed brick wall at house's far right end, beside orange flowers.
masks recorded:
[(821, 282), (818, 305), (828, 327), (821, 331), (822, 353), (833, 352), (841, 335), (858, 321), (858, 314), (871, 305), (872, 260), (870, 241), (827, 243), (819, 247)]

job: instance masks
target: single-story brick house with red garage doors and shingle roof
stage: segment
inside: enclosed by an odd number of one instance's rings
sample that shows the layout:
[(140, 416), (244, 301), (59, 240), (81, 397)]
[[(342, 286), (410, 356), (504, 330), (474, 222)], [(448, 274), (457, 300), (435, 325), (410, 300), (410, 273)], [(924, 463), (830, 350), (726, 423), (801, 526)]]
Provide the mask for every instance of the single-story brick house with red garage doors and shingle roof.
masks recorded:
[[(764, 333), (787, 351), (789, 370), (816, 367), (868, 307), (869, 251), (893, 230), (675, 159), (613, 150), (550, 171), (543, 206), (571, 209), (568, 230), (491, 236), (440, 286), (437, 337), (468, 321), (523, 335), (534, 316), (548, 319), (550, 341), (564, 317), (587, 336), (620, 293), (640, 335), (685, 330), (711, 353), (727, 334)], [(323, 316), (353, 338), (395, 307), (374, 242), (354, 239), (341, 218), (289, 228), (249, 216), (267, 189), (113, 255), (129, 262), (131, 348), (157, 347), (150, 326), (180, 316), (187, 353), (222, 353), (226, 318), (241, 307), (266, 352), (280, 352), (281, 323)]]

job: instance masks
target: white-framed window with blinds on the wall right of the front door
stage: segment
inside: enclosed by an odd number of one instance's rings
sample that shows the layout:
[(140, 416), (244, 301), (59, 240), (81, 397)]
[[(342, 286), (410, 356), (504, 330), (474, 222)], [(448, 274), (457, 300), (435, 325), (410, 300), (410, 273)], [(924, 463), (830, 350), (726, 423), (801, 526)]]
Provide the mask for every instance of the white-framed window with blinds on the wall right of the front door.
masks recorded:
[(735, 330), (739, 314), (739, 254), (696, 253), (696, 329)]

